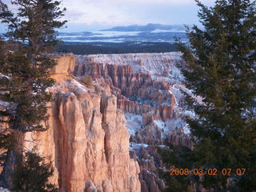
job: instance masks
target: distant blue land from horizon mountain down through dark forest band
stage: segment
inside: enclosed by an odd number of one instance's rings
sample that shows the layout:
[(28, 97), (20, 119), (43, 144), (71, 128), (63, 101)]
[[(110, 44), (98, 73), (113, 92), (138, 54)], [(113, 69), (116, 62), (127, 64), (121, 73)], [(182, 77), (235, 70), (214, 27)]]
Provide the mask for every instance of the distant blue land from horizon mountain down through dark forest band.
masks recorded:
[(146, 26), (115, 26), (111, 29), (59, 33), (64, 44), (60, 52), (74, 54), (166, 53), (177, 51), (178, 38), (187, 42), (186, 29), (181, 25), (147, 24)]

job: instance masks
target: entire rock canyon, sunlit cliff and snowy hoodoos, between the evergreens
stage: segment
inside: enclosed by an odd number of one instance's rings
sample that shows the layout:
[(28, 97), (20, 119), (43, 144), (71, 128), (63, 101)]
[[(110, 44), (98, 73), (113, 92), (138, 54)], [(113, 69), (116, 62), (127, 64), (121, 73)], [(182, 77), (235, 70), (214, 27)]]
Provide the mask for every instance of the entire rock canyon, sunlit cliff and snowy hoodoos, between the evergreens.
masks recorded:
[(26, 150), (54, 162), (50, 182), (62, 192), (163, 190), (156, 146), (191, 147), (181, 54), (53, 57), (48, 129), (24, 140)]

